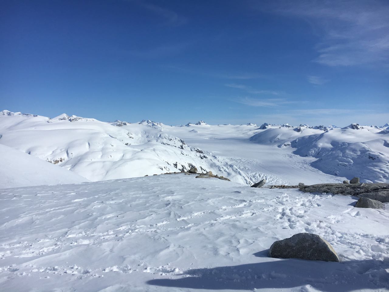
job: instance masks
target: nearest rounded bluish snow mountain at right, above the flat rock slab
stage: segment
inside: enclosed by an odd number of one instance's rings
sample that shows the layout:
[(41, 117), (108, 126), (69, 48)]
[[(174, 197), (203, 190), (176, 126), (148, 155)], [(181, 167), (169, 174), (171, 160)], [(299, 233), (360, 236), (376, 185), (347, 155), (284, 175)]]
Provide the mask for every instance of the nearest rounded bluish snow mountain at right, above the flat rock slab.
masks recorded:
[(358, 176), (363, 182), (389, 181), (389, 133), (347, 127), (299, 137), (291, 144), (295, 154), (319, 158), (312, 166), (323, 172)]

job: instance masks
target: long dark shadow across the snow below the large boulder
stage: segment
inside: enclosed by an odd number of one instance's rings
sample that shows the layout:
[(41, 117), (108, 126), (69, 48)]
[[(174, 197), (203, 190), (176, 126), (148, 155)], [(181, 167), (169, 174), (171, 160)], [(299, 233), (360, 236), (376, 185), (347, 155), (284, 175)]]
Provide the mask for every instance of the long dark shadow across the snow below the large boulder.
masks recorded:
[[(268, 250), (255, 253), (267, 257)], [(154, 279), (149, 285), (209, 290), (253, 290), (310, 285), (321, 291), (389, 288), (389, 261), (350, 260), (342, 263), (270, 259), (238, 266), (190, 269), (179, 279)]]

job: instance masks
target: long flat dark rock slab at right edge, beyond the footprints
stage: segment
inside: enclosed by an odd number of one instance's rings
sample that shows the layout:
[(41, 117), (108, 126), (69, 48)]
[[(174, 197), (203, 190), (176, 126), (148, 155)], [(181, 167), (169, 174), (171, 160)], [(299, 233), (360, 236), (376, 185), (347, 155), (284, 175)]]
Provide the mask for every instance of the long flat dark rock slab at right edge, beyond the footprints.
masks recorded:
[(351, 183), (321, 183), (300, 186), (300, 190), (305, 193), (333, 193), (369, 198), (382, 203), (389, 202), (389, 183), (365, 183), (363, 186)]

